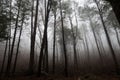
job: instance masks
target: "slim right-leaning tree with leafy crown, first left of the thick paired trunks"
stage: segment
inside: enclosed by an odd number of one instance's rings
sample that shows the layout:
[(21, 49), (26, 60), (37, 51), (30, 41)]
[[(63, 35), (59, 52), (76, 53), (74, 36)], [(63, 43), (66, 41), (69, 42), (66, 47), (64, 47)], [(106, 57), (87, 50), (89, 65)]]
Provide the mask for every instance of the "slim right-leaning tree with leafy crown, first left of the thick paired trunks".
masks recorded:
[(25, 23), (25, 20), (27, 19), (27, 16), (29, 15), (29, 11), (30, 11), (29, 4), (30, 4), (29, 0), (22, 1), (22, 3), (21, 3), (21, 10), (20, 10), (21, 20), (19, 21), (19, 22), (21, 22), (21, 25), (20, 25), (19, 38), (18, 38), (18, 43), (17, 43), (17, 50), (16, 50), (16, 56), (15, 56), (15, 60), (14, 60), (14, 64), (13, 64), (12, 74), (14, 74), (14, 72), (16, 70), (16, 64), (17, 64), (17, 59), (18, 59), (18, 54), (19, 54), (19, 47), (20, 47), (20, 41), (21, 41), (21, 36), (22, 36), (22, 31), (23, 31), (23, 25)]

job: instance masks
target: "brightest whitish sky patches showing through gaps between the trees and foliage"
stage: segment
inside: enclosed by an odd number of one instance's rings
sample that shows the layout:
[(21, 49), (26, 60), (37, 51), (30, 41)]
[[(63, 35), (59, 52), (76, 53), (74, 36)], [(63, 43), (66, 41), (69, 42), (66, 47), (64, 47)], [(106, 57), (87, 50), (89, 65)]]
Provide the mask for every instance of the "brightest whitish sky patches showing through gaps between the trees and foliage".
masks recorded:
[[(64, 0), (64, 1), (69, 1), (69, 0)], [(70, 0), (70, 1), (75, 1), (75, 2), (77, 2), (79, 5), (78, 6), (84, 6), (84, 4), (85, 4), (85, 2), (86, 2), (86, 0)], [(77, 13), (78, 14), (78, 13)], [(40, 13), (39, 13), (39, 15), (40, 15)], [(74, 13), (73, 13), (73, 15), (74, 15)], [(87, 23), (87, 22), (84, 22), (84, 21), (80, 21), (80, 18), (79, 18), (79, 16), (78, 16), (78, 20), (79, 20), (79, 27), (81, 27), (81, 25), (83, 24), (83, 23)], [(51, 23), (50, 23), (51, 24)], [(75, 25), (76, 24), (76, 22), (75, 22), (75, 17), (73, 17), (73, 24)], [(41, 26), (42, 24), (40, 24), (40, 26)], [(88, 24), (88, 26), (89, 26), (89, 24)], [(88, 31), (90, 32), (90, 33), (88, 33), (88, 36), (90, 37), (90, 39), (91, 39), (91, 41), (93, 41), (93, 43), (94, 43), (94, 39), (92, 40), (92, 38), (93, 38), (93, 34), (91, 33), (91, 30), (89, 30), (89, 27), (87, 27), (88, 28)], [(42, 28), (41, 28), (42, 29)], [(39, 32), (38, 32), (39, 33)], [(30, 49), (30, 24), (28, 24), (25, 28), (24, 28), (24, 30), (23, 30), (23, 33), (22, 33), (23, 35), (22, 35), (22, 37), (21, 37), (21, 47), (20, 48), (22, 48), (23, 50), (28, 50), (29, 51), (29, 49)], [(52, 40), (52, 28), (51, 27), (49, 27), (48, 28), (48, 41), (51, 41)], [(37, 43), (39, 43), (39, 38), (38, 38), (38, 35), (36, 35), (37, 37), (36, 37), (36, 41), (37, 41)], [(113, 37), (115, 37), (115, 36), (113, 36)], [(102, 37), (102, 39), (103, 39), (103, 42), (105, 42), (105, 44), (107, 43), (106, 42), (106, 38), (105, 38), (105, 36), (104, 36), (104, 33), (103, 33), (103, 37)], [(114, 40), (113, 40), (114, 41)], [(117, 44), (116, 43), (116, 41), (114, 41), (114, 44)], [(49, 45), (52, 45), (52, 43), (50, 42), (50, 44)], [(107, 47), (107, 44), (106, 45), (104, 45), (104, 46), (106, 46)], [(50, 47), (50, 50), (52, 49), (52, 47)], [(39, 48), (38, 48), (38, 53), (39, 53)]]

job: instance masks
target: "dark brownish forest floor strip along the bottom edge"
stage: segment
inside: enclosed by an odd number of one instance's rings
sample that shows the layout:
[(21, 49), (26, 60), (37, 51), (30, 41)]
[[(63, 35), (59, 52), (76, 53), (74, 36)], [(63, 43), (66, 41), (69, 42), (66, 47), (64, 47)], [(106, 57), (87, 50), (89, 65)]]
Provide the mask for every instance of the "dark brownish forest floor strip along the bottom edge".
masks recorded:
[(35, 77), (35, 76), (19, 76), (1, 78), (0, 80), (120, 80), (120, 77), (113, 75), (84, 75), (80, 77), (64, 77), (64, 76), (47, 76), (47, 77)]

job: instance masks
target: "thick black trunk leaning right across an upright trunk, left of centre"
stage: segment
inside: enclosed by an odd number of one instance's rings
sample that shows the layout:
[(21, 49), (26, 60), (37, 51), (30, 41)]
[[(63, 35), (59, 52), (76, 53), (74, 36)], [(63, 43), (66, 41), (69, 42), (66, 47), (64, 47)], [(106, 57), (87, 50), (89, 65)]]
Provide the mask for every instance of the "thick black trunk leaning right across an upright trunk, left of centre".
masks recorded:
[[(47, 6), (45, 7), (44, 34), (43, 34), (39, 62), (38, 62), (38, 73), (37, 73), (38, 76), (41, 75), (41, 71), (42, 71), (41, 68), (42, 68), (44, 49), (46, 51), (45, 54), (48, 55), (48, 51), (47, 51), (47, 28), (48, 28), (49, 14), (50, 14), (50, 10), (51, 10), (51, 0), (48, 0), (48, 2), (45, 1), (45, 5), (46, 5), (46, 3), (47, 3)], [(46, 58), (48, 58), (48, 57), (46, 57)]]

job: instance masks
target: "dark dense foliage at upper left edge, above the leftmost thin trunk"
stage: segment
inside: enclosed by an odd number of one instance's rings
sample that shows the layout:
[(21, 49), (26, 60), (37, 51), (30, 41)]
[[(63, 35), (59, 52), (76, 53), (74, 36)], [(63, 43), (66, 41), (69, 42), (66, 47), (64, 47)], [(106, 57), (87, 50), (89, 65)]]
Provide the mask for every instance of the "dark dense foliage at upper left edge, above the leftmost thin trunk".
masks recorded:
[(9, 8), (9, 1), (1, 0), (0, 3), (0, 41), (7, 40), (8, 36), (8, 28), (10, 23), (9, 11), (6, 10)]

